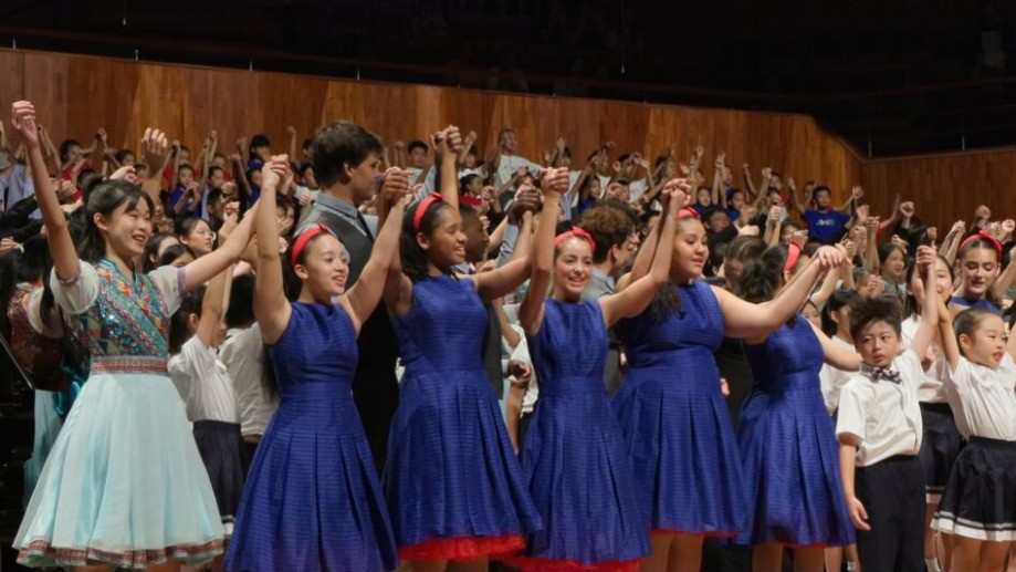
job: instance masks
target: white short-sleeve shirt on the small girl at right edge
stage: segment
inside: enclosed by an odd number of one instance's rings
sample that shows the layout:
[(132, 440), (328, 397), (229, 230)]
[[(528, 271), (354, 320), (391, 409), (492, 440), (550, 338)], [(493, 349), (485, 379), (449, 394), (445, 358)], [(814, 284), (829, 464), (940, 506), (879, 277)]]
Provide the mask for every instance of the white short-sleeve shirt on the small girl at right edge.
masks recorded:
[(947, 368), (950, 405), (964, 437), (1016, 441), (1016, 363), (1006, 352), (997, 367), (960, 357)]

